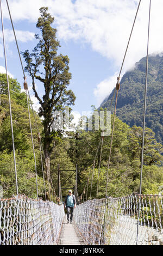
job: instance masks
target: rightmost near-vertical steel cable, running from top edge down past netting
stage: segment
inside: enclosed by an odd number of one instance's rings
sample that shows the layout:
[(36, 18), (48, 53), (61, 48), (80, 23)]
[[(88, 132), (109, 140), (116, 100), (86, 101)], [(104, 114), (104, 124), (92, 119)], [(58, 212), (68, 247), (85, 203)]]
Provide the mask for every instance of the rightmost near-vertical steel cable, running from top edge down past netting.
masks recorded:
[[(147, 39), (147, 57), (146, 57), (146, 85), (145, 85), (145, 97), (144, 97), (144, 110), (143, 110), (143, 135), (142, 135), (142, 150), (141, 150), (141, 172), (140, 172), (140, 188), (139, 194), (141, 195), (142, 188), (142, 170), (143, 170), (143, 153), (144, 153), (144, 143), (145, 143), (145, 122), (146, 122), (146, 101), (147, 101), (147, 83), (148, 83), (148, 51), (149, 51), (149, 29), (150, 29), (150, 19), (151, 19), (151, 0), (149, 2), (149, 18), (148, 18), (148, 39)], [(140, 199), (138, 208), (138, 218), (137, 218), (137, 237), (136, 245), (139, 236), (139, 219), (140, 219)]]

